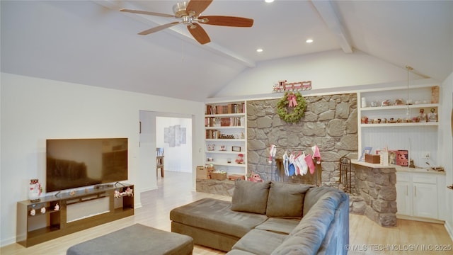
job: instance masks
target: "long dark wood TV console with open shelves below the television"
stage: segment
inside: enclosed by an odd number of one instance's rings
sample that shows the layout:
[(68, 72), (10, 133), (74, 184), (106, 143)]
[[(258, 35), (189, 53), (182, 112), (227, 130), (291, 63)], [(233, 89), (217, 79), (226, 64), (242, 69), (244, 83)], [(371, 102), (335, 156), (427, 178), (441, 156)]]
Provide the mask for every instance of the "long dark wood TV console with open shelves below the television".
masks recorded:
[(98, 186), (17, 203), (16, 242), (25, 247), (134, 215), (134, 186)]

